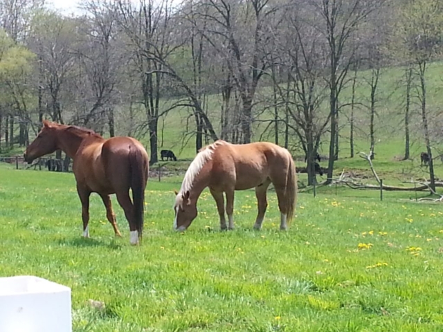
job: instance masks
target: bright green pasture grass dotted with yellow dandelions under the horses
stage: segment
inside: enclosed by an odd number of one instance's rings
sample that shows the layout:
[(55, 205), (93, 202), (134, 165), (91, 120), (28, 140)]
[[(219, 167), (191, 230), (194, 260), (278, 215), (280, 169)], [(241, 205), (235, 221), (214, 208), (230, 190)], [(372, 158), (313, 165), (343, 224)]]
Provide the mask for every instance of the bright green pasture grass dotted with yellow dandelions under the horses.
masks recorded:
[(255, 232), (255, 195), (245, 191), (236, 193), (236, 230), (220, 232), (204, 192), (198, 218), (180, 234), (172, 231), (179, 178), (151, 179), (143, 245), (134, 248), (115, 199), (123, 239), (114, 239), (98, 196), (91, 239), (82, 239), (72, 174), (3, 164), (0, 178), (0, 275), (71, 287), (75, 332), (442, 330), (440, 205), (329, 188), (316, 199), (300, 194), (296, 219), (280, 232), (270, 192)]

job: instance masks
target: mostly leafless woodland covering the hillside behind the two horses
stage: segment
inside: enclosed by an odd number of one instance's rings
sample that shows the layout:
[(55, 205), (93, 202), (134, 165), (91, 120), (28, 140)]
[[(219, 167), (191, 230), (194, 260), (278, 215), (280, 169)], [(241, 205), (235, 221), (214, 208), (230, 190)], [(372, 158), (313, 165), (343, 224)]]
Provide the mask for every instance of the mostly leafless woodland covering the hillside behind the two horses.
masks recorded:
[[(325, 137), (332, 178), (344, 122), (354, 156), (361, 71), (374, 149), (379, 78), (397, 66), (404, 158), (418, 102), (433, 186), (439, 111), (427, 107), (426, 73), (441, 59), (441, 0), (81, 0), (71, 16), (43, 0), (1, 0), (0, 24), (1, 149), (27, 145), (48, 118), (109, 136), (145, 134), (156, 163), (159, 123), (181, 108), (196, 151), (208, 140), (251, 142), (257, 122), (284, 147), (296, 137), (312, 183)], [(125, 132), (116, 132), (118, 109)]]

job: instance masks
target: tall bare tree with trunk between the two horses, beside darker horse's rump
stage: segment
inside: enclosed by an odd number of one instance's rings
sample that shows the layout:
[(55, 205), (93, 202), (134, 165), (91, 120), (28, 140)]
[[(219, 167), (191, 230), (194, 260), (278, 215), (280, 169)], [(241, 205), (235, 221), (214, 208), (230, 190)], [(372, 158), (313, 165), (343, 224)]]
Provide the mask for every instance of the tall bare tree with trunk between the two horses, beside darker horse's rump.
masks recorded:
[[(155, 4), (152, 0), (141, 0), (138, 7), (130, 1), (119, 0), (118, 22), (129, 37), (134, 65), (141, 80), (142, 104), (145, 108), (147, 127), (150, 133), (150, 163), (156, 163), (158, 145), (161, 86), (164, 84), (168, 57), (177, 46), (172, 40), (172, 7), (169, 0)], [(169, 110), (168, 110), (169, 111)]]

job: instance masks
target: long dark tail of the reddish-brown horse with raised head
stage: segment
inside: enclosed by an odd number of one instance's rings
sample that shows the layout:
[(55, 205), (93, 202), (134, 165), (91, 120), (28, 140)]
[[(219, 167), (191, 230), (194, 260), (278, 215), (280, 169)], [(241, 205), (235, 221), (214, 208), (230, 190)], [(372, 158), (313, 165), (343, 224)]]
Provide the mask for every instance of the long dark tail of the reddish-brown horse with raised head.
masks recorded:
[(129, 164), (131, 165), (131, 188), (132, 201), (134, 203), (134, 220), (138, 231), (138, 239), (142, 238), (143, 221), (145, 216), (145, 187), (147, 183), (147, 174), (149, 172), (149, 163), (143, 151), (134, 146), (129, 154)]

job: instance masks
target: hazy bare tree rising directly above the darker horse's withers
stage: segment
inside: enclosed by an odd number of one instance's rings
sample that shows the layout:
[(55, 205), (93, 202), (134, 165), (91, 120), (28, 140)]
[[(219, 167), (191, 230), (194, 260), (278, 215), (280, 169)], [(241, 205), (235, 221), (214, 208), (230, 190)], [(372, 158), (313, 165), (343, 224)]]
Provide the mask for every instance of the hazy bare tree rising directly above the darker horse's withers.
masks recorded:
[[(116, 37), (116, 15), (109, 0), (87, 0), (82, 3), (87, 17), (82, 21), (82, 40), (76, 55), (87, 80), (80, 80), (80, 93), (84, 95), (84, 114), (79, 116), (85, 126), (102, 130), (107, 120), (110, 136), (115, 135), (114, 105), (116, 84), (123, 50)], [(105, 118), (107, 118), (105, 120)]]

